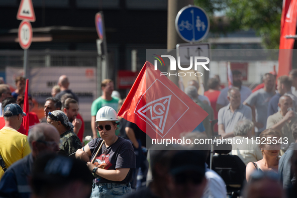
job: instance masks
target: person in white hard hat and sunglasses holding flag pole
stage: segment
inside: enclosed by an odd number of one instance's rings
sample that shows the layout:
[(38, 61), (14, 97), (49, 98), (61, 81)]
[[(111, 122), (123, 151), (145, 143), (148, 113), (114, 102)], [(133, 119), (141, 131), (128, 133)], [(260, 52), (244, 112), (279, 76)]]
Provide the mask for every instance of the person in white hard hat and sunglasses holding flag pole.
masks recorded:
[(132, 169), (136, 168), (135, 153), (128, 140), (116, 135), (117, 121), (113, 108), (101, 108), (95, 121), (101, 138), (76, 151), (76, 158), (87, 162), (95, 176), (90, 197), (119, 197), (131, 192), (129, 182), (133, 179)]

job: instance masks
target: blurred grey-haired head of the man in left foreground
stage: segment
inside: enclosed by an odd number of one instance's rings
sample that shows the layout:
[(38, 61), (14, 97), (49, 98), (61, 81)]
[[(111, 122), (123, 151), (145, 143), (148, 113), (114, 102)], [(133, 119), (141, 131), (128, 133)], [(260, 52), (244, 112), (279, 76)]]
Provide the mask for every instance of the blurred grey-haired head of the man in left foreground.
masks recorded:
[(59, 150), (60, 134), (58, 130), (47, 123), (35, 125), (28, 136), (33, 157), (40, 152), (57, 152)]

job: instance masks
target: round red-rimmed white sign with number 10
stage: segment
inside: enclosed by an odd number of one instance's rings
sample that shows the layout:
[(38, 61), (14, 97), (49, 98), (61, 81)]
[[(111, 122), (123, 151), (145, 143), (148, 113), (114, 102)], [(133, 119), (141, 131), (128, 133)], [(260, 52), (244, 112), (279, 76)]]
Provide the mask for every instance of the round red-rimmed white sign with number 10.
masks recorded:
[(32, 26), (29, 21), (22, 21), (19, 27), (18, 37), (20, 46), (25, 50), (28, 49), (32, 42)]

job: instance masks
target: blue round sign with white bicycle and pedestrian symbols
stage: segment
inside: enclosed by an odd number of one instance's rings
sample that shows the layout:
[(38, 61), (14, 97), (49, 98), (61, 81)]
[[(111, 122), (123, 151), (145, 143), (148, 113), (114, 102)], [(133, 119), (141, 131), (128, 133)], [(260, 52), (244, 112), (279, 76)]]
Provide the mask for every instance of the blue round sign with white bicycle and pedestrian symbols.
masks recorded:
[(187, 42), (201, 41), (210, 30), (210, 19), (202, 8), (189, 5), (178, 12), (175, 18), (175, 29)]

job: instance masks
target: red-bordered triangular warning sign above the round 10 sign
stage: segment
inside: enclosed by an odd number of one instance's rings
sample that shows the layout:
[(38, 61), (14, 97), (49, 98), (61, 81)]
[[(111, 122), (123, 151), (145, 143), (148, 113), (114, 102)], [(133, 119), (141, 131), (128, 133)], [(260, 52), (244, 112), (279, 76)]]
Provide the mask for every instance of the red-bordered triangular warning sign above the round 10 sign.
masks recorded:
[(26, 19), (28, 21), (35, 22), (36, 19), (35, 19), (35, 13), (34, 13), (34, 9), (33, 9), (32, 0), (22, 0), (21, 1), (17, 19), (18, 20)]

